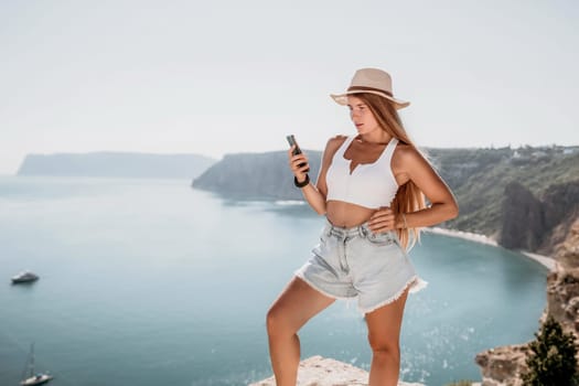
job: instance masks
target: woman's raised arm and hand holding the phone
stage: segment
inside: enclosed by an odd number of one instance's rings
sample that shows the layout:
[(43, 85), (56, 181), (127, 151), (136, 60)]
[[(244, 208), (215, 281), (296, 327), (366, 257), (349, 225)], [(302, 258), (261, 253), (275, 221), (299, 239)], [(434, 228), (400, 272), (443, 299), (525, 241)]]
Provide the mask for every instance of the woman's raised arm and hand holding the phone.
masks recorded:
[[(318, 214), (325, 214), (325, 197), (328, 195), (325, 173), (332, 163), (332, 158), (334, 157), (335, 151), (337, 148), (340, 148), (344, 139), (345, 137), (337, 136), (331, 138), (328, 141), (322, 156), (322, 164), (320, 167), (320, 173), (318, 174), (318, 181), (315, 185), (310, 182), (308, 185), (301, 189), (303, 197)], [(288, 151), (291, 171), (293, 172), (293, 175), (298, 182), (303, 182), (305, 181), (305, 175), (308, 174), (305, 172), (305, 170), (309, 168), (308, 157), (304, 153), (292, 156), (292, 150), (293, 147)], [(300, 168), (299, 164), (304, 162), (305, 165)]]

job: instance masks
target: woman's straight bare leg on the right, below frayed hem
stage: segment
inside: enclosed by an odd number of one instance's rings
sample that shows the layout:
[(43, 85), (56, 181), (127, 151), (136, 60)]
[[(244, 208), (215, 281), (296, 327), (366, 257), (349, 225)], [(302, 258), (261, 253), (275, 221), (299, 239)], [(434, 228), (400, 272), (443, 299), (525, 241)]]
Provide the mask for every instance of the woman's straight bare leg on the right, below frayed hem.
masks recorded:
[(400, 373), (400, 328), (408, 289), (396, 301), (366, 313), (372, 347), (369, 386), (396, 386)]

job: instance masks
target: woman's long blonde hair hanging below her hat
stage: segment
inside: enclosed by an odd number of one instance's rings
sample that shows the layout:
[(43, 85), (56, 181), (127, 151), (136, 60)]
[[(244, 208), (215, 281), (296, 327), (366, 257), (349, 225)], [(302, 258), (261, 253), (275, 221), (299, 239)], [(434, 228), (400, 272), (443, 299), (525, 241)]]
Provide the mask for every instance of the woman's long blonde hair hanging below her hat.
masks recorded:
[[(354, 96), (362, 99), (366, 106), (368, 106), (384, 131), (400, 142), (417, 149), (408, 137), (400, 116), (393, 103), (384, 97), (368, 93), (355, 94)], [(425, 207), (425, 194), (412, 181), (408, 181), (398, 187), (398, 192), (390, 204), (390, 208), (396, 215), (420, 211)], [(420, 228), (401, 228), (396, 229), (396, 232), (398, 233), (401, 245), (406, 249), (410, 249), (416, 242), (420, 240)]]

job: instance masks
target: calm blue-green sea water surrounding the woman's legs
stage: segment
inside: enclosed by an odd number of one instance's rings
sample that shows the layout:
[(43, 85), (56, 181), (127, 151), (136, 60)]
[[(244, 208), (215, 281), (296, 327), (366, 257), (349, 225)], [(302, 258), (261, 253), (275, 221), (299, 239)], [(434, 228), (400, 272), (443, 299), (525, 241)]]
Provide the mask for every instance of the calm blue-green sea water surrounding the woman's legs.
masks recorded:
[[(323, 218), (288, 203), (235, 203), (189, 181), (0, 178), (0, 385), (35, 342), (52, 385), (246, 385), (270, 376), (265, 313)], [(533, 339), (546, 270), (501, 248), (425, 236), (411, 258), (403, 377), (480, 379), (476, 353)], [(11, 286), (32, 269), (41, 280)], [(3, 285), (1, 285), (3, 282)], [(302, 356), (368, 368), (354, 302), (301, 332)]]

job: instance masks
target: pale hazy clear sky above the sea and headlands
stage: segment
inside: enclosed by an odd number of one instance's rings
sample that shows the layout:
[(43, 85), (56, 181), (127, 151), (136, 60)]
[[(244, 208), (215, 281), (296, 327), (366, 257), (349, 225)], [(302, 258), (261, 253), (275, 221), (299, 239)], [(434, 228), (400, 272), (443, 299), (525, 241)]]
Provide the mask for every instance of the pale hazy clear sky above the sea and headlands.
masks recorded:
[(0, 174), (29, 153), (304, 149), (390, 73), (420, 147), (579, 144), (576, 0), (3, 0)]

